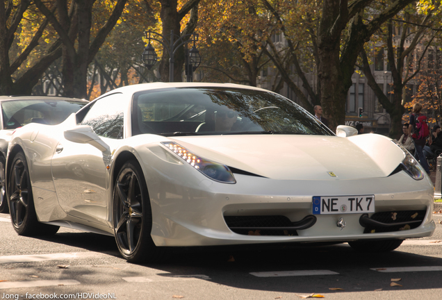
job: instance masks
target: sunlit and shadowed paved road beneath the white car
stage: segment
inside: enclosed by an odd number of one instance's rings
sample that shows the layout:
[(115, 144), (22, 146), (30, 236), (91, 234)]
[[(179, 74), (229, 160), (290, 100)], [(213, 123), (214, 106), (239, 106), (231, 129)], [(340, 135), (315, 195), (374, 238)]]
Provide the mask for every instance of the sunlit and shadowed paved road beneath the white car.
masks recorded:
[[(434, 219), (432, 237), (391, 253), (361, 254), (347, 244), (177, 249), (161, 265), (132, 265), (111, 237), (67, 228), (20, 237), (0, 214), (0, 299), (442, 299), (442, 214)], [(402, 286), (392, 287), (392, 278)]]

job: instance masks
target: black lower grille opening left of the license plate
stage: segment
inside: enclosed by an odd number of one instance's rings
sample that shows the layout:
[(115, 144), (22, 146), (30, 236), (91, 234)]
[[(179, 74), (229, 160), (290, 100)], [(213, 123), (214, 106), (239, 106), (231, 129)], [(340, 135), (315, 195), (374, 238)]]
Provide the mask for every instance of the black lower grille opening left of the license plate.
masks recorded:
[[(297, 235), (294, 229), (267, 229), (268, 227), (291, 227), (293, 223), (283, 215), (270, 216), (224, 216), (230, 230), (240, 235)], [(240, 227), (240, 228), (238, 228)], [(243, 228), (241, 228), (243, 227)], [(252, 229), (267, 227), (266, 229)]]

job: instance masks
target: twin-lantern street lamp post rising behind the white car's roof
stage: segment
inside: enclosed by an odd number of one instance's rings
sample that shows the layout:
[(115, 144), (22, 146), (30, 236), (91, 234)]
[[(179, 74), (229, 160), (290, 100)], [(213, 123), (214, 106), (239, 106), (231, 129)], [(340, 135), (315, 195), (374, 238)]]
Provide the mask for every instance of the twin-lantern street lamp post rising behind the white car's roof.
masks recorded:
[[(153, 38), (152, 35), (158, 35), (159, 37), (163, 38), (163, 40), (158, 40), (156, 38)], [(170, 40), (167, 40), (163, 35), (156, 33), (154, 31), (145, 31), (146, 38), (148, 40), (147, 46), (145, 48), (145, 51), (141, 54), (141, 60), (142, 63), (144, 63), (145, 67), (147, 69), (151, 69), (157, 59), (158, 56), (156, 55), (154, 47), (152, 47), (152, 44), (150, 43), (151, 40), (155, 40), (156, 42), (159, 42), (164, 46), (164, 48), (169, 53), (169, 81), (174, 81), (174, 55), (177, 49), (179, 47), (183, 46), (184, 44), (188, 44), (189, 42), (193, 42), (193, 47), (190, 49), (190, 51), (186, 51), (186, 74), (188, 74), (188, 81), (190, 81), (190, 76), (192, 76), (193, 72), (199, 64), (201, 63), (201, 56), (199, 56), (199, 51), (195, 47), (195, 42), (198, 40), (198, 33), (189, 33), (186, 35), (183, 35), (179, 37), (177, 40), (174, 41), (174, 31), (170, 31)], [(186, 38), (189, 38), (188, 40), (185, 40)], [(165, 42), (163, 42), (165, 41)]]

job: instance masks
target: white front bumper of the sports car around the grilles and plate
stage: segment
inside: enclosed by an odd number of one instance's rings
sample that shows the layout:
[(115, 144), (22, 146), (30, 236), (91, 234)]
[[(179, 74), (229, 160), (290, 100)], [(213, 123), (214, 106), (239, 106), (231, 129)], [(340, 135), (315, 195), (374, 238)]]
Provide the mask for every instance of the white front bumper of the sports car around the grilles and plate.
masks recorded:
[[(435, 229), (431, 181), (428, 178), (415, 181), (404, 172), (386, 178), (329, 181), (280, 181), (235, 174), (234, 185), (216, 183), (199, 172), (165, 174), (172, 173), (147, 176), (152, 238), (161, 247), (407, 239), (432, 235)], [(225, 219), (281, 215), (290, 222), (299, 222), (312, 215), (313, 195), (359, 194), (375, 195), (376, 213), (416, 210), (420, 211), (422, 222), (403, 230), (364, 233), (366, 228), (360, 224), (362, 214), (316, 215), (313, 226), (296, 230), (295, 234), (283, 230), (281, 235), (257, 235), (261, 231), (234, 232)], [(342, 229), (337, 226), (340, 218), (345, 222)]]

